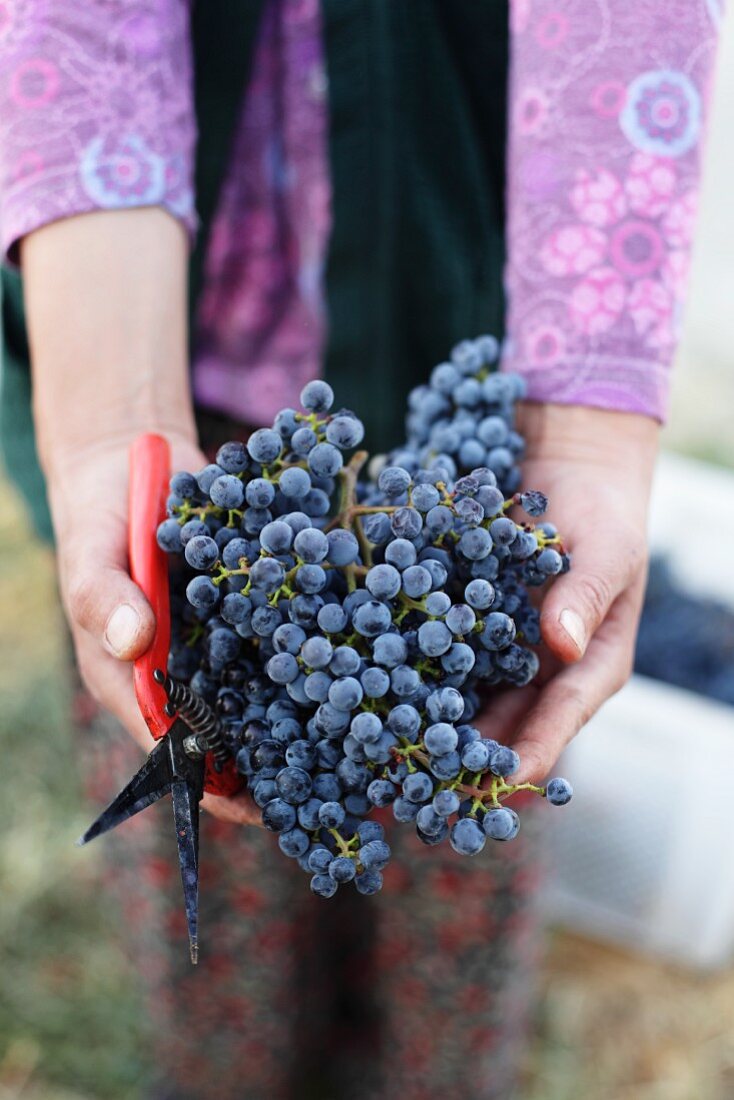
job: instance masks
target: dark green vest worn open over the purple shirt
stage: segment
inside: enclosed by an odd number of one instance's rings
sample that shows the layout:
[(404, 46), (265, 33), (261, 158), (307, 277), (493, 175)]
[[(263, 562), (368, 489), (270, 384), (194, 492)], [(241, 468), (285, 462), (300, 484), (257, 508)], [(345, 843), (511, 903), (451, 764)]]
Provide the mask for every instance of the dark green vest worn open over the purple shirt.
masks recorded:
[[(325, 369), (339, 405), (365, 421), (366, 444), (384, 450), (399, 442), (408, 389), (453, 343), (501, 334), (507, 3), (321, 3), (332, 180)], [(198, 0), (194, 9), (202, 228), (191, 257), (191, 311), (263, 7)], [(50, 537), (22, 283), (8, 270), (2, 341), (2, 450), (37, 530)]]

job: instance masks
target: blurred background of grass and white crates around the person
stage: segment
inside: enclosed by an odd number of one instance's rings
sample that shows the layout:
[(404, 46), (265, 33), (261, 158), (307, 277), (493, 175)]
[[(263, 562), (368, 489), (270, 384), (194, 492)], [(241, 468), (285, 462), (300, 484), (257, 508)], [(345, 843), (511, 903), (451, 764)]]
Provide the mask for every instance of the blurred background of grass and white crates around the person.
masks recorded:
[[(734, 1097), (733, 132), (730, 20), (638, 673), (559, 769), (578, 796), (550, 815), (523, 1100)], [(88, 811), (53, 561), (4, 483), (0, 498), (0, 1100), (136, 1100), (134, 967), (102, 934), (100, 853), (70, 843)]]

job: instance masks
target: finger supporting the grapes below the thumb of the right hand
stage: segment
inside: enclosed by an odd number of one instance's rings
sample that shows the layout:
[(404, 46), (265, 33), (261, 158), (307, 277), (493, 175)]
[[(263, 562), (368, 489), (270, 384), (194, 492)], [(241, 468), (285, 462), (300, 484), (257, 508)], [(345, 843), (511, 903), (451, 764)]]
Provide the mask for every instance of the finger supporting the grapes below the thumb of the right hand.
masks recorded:
[(628, 680), (644, 579), (613, 605), (579, 664), (559, 672), (538, 695), (514, 748), (521, 766), (513, 782), (548, 776), (568, 743)]

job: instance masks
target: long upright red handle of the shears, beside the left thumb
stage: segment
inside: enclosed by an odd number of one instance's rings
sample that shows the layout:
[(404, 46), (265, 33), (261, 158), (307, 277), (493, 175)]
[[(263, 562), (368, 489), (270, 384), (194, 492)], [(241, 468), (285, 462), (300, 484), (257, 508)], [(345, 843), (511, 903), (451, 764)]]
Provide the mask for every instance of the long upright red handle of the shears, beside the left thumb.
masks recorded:
[(155, 636), (134, 666), (138, 705), (156, 739), (173, 725), (163, 712), (166, 693), (153, 680), (155, 669), (165, 672), (171, 646), (168, 563), (155, 532), (166, 514), (171, 452), (162, 436), (141, 436), (130, 448), (130, 575), (145, 593), (155, 615)]

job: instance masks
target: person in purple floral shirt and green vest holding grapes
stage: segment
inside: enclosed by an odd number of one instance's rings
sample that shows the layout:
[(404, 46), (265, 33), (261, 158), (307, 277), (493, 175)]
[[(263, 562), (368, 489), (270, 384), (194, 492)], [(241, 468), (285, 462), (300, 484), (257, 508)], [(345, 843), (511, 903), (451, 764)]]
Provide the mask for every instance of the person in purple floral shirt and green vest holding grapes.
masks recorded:
[[(78, 667), (142, 747), (131, 440), (160, 432), (196, 470), (324, 374), (387, 450), (409, 388), (483, 331), (527, 382), (524, 481), (573, 568), (543, 603), (541, 678), (480, 724), (541, 780), (622, 686), (720, 18), (714, 0), (0, 6), (3, 446), (48, 530), (32, 377)], [(406, 845), (382, 898), (320, 904), (231, 827), (258, 820), (247, 798), (206, 805), (206, 985), (179, 944), (165, 957), (161, 927), (182, 930), (158, 831), (119, 848), (147, 906), (158, 1096), (510, 1094), (532, 828), (461, 866)]]

